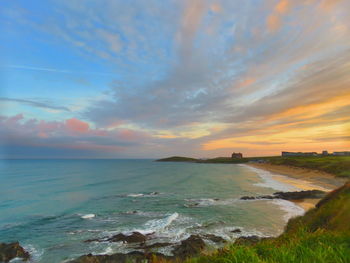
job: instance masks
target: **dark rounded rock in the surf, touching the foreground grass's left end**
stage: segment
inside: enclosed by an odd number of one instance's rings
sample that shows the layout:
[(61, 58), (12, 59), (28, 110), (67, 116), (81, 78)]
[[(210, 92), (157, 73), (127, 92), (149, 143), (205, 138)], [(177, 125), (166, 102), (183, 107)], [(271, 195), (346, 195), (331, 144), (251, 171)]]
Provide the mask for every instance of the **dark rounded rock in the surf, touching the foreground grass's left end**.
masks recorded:
[(204, 247), (205, 243), (200, 236), (191, 235), (186, 240), (181, 241), (181, 244), (176, 246), (172, 252), (176, 258), (185, 259), (198, 255)]

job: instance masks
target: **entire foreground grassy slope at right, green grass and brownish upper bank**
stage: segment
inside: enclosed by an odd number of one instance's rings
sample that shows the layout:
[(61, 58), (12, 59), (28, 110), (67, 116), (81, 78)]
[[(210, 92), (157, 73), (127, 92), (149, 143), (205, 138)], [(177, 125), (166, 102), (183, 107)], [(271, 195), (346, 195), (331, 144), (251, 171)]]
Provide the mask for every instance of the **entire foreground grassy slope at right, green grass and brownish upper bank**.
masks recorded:
[(186, 263), (350, 262), (350, 183), (327, 195), (315, 209), (288, 222), (278, 238), (232, 244)]

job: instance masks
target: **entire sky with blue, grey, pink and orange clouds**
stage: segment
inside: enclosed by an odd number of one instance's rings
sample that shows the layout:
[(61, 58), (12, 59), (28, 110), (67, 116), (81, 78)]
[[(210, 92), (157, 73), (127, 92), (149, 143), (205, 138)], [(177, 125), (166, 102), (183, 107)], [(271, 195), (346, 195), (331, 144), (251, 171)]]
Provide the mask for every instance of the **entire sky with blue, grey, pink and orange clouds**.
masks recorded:
[(350, 150), (348, 0), (0, 3), (0, 158)]

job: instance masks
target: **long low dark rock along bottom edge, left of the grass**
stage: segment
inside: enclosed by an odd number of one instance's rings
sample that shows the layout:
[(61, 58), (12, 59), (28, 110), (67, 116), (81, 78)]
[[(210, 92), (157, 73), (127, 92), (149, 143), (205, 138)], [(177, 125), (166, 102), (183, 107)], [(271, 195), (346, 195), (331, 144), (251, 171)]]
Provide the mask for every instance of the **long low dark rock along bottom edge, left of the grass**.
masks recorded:
[[(77, 259), (69, 261), (68, 263), (153, 263), (157, 260), (171, 260), (172, 257), (165, 256), (161, 253), (142, 253), (133, 251), (127, 254), (116, 253), (112, 255), (83, 255)], [(158, 261), (159, 262), (159, 261)]]

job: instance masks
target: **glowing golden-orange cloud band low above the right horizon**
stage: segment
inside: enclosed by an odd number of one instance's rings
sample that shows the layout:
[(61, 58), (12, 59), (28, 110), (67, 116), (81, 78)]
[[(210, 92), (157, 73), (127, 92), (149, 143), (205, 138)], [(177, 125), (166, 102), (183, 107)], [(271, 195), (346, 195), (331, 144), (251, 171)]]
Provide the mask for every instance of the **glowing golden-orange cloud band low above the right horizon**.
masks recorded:
[(340, 93), (317, 103), (267, 116), (260, 121), (243, 123), (240, 126), (242, 132), (236, 132), (229, 138), (207, 141), (202, 144), (202, 149), (239, 149), (251, 155), (278, 154), (281, 150), (346, 150), (350, 148), (350, 116), (336, 113), (349, 106), (350, 94)]

